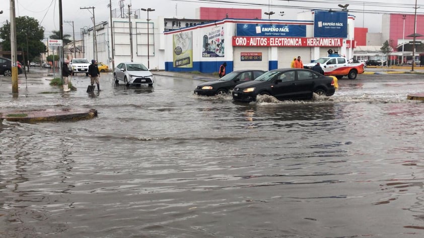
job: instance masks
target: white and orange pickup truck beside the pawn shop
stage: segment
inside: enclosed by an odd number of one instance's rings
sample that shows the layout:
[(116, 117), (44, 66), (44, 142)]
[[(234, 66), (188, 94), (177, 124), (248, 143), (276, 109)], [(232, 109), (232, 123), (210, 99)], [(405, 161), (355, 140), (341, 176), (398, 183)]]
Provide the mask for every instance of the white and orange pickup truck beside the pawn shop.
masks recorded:
[(345, 57), (339, 54), (329, 54), (328, 57), (322, 57), (312, 63), (305, 64), (304, 68), (312, 69), (317, 63), (320, 63), (324, 75), (336, 76), (338, 79), (347, 75), (350, 80), (355, 80), (358, 74), (364, 72), (363, 63), (349, 63)]

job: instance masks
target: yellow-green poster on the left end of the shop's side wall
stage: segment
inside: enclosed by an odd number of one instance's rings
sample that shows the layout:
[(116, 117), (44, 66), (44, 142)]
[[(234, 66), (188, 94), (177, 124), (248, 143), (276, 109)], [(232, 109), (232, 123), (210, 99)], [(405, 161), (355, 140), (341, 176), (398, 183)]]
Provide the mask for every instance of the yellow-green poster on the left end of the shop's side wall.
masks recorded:
[(176, 68), (193, 67), (193, 32), (172, 35), (173, 61)]

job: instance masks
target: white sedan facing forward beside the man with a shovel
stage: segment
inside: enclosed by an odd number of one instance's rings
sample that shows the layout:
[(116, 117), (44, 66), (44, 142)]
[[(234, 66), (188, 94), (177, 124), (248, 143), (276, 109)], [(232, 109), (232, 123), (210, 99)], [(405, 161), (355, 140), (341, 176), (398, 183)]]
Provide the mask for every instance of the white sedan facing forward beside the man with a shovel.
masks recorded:
[(149, 85), (153, 86), (153, 74), (142, 63), (123, 62), (116, 66), (113, 77), (115, 83), (123, 81), (126, 86), (128, 85)]

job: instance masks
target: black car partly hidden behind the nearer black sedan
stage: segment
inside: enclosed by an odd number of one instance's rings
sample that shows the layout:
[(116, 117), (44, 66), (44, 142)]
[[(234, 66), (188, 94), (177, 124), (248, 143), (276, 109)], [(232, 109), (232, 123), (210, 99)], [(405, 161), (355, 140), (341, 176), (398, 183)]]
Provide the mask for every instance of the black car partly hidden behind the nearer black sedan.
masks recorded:
[(233, 71), (224, 77), (220, 78), (217, 81), (206, 82), (197, 85), (194, 89), (194, 93), (197, 95), (221, 95), (227, 94), (229, 90), (234, 89), (234, 87), (240, 82), (252, 81), (257, 78), (259, 75), (263, 74), (265, 71), (262, 70), (237, 70)]

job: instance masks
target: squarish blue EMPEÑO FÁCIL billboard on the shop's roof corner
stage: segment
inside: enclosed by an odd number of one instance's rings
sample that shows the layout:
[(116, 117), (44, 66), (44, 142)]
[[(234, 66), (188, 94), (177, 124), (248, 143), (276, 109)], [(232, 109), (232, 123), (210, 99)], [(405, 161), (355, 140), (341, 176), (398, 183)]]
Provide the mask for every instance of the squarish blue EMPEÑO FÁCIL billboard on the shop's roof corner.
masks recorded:
[(347, 38), (347, 12), (315, 11), (314, 37)]

